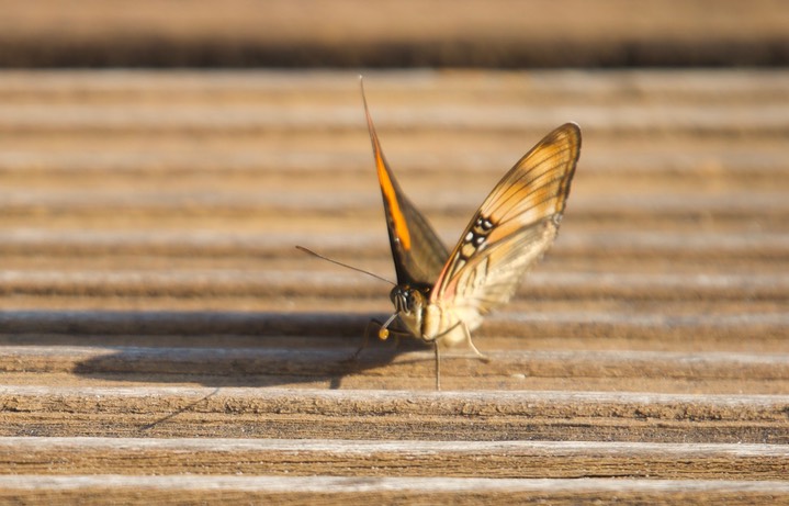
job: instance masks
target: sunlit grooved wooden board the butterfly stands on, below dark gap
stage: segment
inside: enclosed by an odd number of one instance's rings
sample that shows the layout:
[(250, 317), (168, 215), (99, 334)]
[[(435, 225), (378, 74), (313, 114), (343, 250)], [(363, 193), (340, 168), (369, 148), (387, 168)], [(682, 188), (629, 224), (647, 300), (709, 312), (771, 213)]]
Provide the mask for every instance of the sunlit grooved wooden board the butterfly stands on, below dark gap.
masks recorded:
[(552, 127), (560, 237), (494, 360), (374, 344), (352, 72), (0, 76), (0, 501), (789, 503), (789, 72), (367, 75), (449, 243)]

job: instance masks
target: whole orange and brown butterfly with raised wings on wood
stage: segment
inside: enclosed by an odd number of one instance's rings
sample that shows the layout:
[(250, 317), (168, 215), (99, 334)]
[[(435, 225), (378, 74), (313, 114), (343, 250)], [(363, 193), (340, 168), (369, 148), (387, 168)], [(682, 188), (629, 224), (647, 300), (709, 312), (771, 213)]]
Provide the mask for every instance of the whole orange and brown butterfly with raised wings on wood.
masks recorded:
[(395, 313), (379, 324), (377, 336), (386, 339), (397, 319), (406, 334), (432, 344), (440, 390), (439, 348), (465, 347), (486, 360), (471, 333), (484, 315), (510, 300), (556, 237), (581, 154), (581, 130), (566, 123), (518, 160), (450, 251), (386, 162), (363, 86), (362, 100), (397, 276), (390, 294)]

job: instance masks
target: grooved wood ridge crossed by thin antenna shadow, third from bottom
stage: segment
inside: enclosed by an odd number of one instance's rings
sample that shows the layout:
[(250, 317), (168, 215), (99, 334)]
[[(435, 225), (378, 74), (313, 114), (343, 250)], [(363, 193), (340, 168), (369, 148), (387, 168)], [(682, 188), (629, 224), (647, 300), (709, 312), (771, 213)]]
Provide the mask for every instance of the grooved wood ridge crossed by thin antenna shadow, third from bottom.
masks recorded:
[[(47, 378), (56, 382), (58, 376)], [(427, 389), (431, 380), (415, 387)], [(248, 381), (263, 383), (257, 376)], [(381, 384), (387, 382), (384, 376)], [(260, 389), (128, 381), (124, 386), (4, 386), (1, 428), (2, 436), (789, 441), (785, 395), (361, 390), (370, 384), (377, 382), (359, 382), (348, 391), (327, 390), (328, 381), (300, 390), (275, 383)]]

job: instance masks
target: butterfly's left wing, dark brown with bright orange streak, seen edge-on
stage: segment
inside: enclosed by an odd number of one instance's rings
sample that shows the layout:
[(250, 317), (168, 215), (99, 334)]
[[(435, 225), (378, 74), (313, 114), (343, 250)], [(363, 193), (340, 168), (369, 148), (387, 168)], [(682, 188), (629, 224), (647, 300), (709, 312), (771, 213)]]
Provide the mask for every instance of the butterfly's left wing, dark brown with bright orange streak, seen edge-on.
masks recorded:
[(381, 149), (363, 88), (362, 99), (384, 201), (392, 258), (397, 271), (397, 284), (432, 286), (449, 258), (449, 252), (425, 216), (406, 199), (397, 184)]

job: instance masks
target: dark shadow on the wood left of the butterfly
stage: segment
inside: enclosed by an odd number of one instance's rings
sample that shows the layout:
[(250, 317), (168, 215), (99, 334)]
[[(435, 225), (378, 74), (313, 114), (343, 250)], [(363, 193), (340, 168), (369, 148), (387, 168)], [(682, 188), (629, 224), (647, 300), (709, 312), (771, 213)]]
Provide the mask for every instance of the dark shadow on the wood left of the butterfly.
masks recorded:
[(352, 360), (371, 318), (359, 314), (7, 312), (0, 318), (4, 344), (52, 347), (27, 356), (26, 371), (60, 369), (110, 381), (339, 387), (348, 374), (422, 348), (416, 340), (395, 348), (370, 339)]

